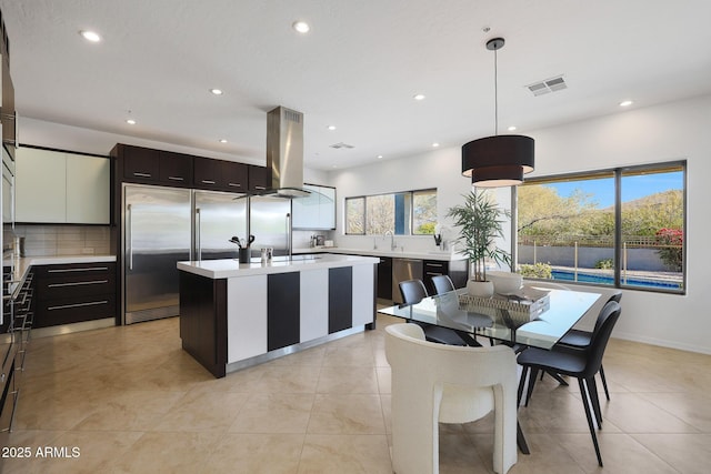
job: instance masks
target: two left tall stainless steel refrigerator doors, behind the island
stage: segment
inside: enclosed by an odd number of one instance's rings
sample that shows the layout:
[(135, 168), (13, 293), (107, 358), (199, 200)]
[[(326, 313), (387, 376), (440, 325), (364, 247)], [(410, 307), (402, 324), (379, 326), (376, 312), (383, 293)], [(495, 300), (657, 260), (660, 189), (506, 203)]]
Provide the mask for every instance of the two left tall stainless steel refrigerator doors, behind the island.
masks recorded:
[(247, 200), (230, 193), (123, 185), (122, 322), (179, 314), (177, 262), (236, 258)]

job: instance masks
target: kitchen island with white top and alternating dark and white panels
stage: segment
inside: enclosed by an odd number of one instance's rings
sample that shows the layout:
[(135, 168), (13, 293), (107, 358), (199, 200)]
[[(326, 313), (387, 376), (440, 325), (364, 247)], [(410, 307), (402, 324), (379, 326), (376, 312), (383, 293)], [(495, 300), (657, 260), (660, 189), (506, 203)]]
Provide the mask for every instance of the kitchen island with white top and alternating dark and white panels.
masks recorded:
[(182, 347), (222, 377), (373, 329), (378, 262), (333, 254), (179, 262)]

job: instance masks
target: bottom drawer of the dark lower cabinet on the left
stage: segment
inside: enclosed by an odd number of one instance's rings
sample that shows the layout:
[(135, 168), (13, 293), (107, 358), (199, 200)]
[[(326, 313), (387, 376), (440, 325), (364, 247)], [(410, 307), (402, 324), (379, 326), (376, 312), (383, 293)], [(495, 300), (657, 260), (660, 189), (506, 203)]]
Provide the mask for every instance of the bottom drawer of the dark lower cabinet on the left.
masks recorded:
[(63, 297), (34, 302), (33, 327), (56, 326), (116, 316), (116, 295)]

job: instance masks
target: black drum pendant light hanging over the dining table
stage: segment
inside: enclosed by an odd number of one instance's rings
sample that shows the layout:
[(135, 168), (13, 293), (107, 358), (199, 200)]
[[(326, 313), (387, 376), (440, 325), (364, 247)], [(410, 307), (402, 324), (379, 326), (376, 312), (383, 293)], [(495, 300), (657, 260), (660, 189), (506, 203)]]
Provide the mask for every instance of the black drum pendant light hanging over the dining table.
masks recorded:
[(523, 174), (533, 171), (533, 139), (499, 134), (497, 51), (503, 43), (503, 38), (487, 41), (487, 49), (493, 51), (494, 135), (462, 145), (462, 175), (482, 188), (518, 185), (523, 182)]

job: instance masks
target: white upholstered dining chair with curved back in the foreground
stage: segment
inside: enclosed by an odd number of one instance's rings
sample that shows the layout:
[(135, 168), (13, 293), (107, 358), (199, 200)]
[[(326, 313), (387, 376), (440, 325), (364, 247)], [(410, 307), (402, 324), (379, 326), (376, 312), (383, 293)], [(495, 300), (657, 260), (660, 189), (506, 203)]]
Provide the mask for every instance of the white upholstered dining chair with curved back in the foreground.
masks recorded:
[(494, 412), (493, 470), (518, 460), (513, 351), (428, 342), (417, 324), (385, 327), (392, 373), (392, 466), (398, 474), (439, 473), (439, 423), (469, 423)]

